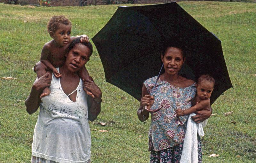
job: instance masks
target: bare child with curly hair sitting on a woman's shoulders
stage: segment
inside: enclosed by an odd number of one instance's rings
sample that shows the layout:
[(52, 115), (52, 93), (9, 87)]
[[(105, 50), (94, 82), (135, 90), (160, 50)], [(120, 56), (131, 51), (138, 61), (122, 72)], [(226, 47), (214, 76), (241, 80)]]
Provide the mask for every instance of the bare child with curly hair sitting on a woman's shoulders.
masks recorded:
[[(80, 41), (87, 43), (89, 42), (89, 38), (87, 35), (70, 37), (71, 22), (65, 16), (53, 16), (48, 22), (47, 29), (53, 40), (44, 44), (40, 58), (41, 63), (38, 62), (34, 70), (36, 71), (37, 78), (40, 78), (46, 73), (49, 74), (48, 76), (50, 78), (52, 78), (52, 73), (56, 78), (59, 78), (61, 74), (55, 67), (60, 67), (64, 64), (66, 60), (66, 50), (71, 41), (81, 37)], [(85, 66), (78, 72), (78, 75), (83, 81), (90, 79)], [(50, 89), (46, 87), (40, 98), (48, 96), (50, 93)], [(93, 97), (91, 92), (86, 91), (86, 93)]]

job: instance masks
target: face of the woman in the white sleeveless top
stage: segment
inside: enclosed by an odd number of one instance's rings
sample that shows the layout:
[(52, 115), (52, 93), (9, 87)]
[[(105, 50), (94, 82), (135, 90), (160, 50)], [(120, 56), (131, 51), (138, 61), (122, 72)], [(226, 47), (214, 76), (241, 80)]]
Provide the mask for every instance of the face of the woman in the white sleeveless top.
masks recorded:
[(73, 49), (69, 50), (66, 56), (68, 70), (76, 72), (89, 61), (90, 49), (81, 43), (77, 43)]

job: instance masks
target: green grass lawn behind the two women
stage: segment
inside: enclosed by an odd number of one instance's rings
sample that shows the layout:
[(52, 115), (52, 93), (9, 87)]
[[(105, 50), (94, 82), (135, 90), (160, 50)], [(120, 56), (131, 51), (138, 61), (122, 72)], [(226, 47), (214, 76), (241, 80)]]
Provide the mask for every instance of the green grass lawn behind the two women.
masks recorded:
[[(188, 13), (222, 41), (234, 88), (212, 105), (215, 114), (204, 129), (203, 160), (212, 162), (256, 161), (256, 4), (180, 2)], [(28, 115), (27, 98), (36, 74), (46, 30), (53, 15), (66, 15), (72, 35), (94, 36), (111, 18), (117, 5), (88, 7), (29, 7), (0, 4), (0, 162), (29, 162), (38, 111)], [(99, 55), (94, 52), (86, 67), (103, 91), (102, 112), (90, 122), (92, 162), (148, 162), (148, 127), (136, 115), (139, 102), (104, 82)], [(2, 77), (15, 80), (3, 80)], [(20, 101), (21, 100), (21, 101)], [(229, 116), (224, 113), (233, 111)], [(106, 122), (100, 126), (97, 122)], [(235, 124), (233, 124), (236, 122)], [(101, 133), (99, 129), (109, 132)], [(210, 154), (219, 157), (208, 157)]]

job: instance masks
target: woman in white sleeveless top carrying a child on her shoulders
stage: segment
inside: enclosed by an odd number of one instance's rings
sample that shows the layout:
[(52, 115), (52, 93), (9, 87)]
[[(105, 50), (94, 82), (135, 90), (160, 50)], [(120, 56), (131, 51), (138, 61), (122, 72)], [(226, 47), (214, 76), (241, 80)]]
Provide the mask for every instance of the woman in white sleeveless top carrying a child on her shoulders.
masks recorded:
[[(25, 101), (27, 112), (35, 113), (40, 106), (36, 122), (31, 163), (89, 163), (91, 133), (89, 120), (100, 113), (102, 92), (91, 79), (80, 79), (78, 73), (92, 55), (92, 44), (73, 40), (63, 66), (56, 68), (60, 78), (48, 74), (38, 78)], [(51, 94), (40, 97), (50, 86)], [(89, 90), (94, 98), (84, 90)]]

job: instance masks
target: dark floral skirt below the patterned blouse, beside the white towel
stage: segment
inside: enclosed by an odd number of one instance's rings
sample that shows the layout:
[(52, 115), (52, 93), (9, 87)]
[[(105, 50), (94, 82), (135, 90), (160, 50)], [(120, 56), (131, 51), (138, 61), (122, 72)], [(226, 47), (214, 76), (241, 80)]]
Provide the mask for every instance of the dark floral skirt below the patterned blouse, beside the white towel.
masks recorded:
[[(198, 163), (202, 163), (202, 141), (197, 136)], [(161, 151), (150, 151), (150, 163), (180, 163), (183, 143)]]

